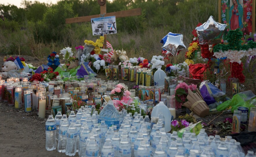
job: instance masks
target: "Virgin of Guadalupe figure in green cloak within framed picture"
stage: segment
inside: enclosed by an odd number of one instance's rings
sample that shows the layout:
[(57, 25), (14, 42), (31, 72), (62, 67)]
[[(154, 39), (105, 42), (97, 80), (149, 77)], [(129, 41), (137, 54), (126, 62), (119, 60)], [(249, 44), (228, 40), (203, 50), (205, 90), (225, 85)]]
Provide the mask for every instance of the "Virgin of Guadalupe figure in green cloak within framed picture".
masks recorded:
[[(233, 5), (232, 5), (233, 4)], [(239, 0), (230, 0), (229, 10), (229, 24), (230, 30), (237, 28), (243, 28), (243, 6), (239, 3)]]

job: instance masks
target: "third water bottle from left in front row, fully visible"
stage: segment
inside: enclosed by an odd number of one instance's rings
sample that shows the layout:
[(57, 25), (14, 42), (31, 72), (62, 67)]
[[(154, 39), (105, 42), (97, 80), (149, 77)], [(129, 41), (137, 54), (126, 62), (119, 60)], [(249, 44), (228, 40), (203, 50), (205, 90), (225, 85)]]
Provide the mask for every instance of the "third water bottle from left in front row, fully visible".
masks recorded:
[(71, 122), (69, 128), (67, 129), (67, 145), (65, 154), (68, 156), (76, 155), (77, 151), (77, 135), (78, 131), (74, 122)]

